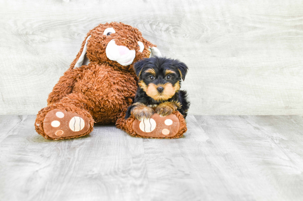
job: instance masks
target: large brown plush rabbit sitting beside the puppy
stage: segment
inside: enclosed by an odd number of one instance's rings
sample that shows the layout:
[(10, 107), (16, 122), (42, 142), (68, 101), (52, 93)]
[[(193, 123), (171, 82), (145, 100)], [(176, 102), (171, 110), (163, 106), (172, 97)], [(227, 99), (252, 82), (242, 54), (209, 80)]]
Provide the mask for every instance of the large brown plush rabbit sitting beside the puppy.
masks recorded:
[[(77, 138), (92, 132), (95, 122), (116, 123), (118, 128), (138, 137), (182, 136), (186, 124), (178, 112), (171, 114), (171, 125), (157, 123), (154, 129), (161, 132), (168, 127), (169, 135), (142, 131), (133, 116), (124, 118), (137, 90), (133, 63), (152, 54), (161, 56), (155, 45), (132, 26), (112, 22), (90, 30), (70, 68), (49, 94), (48, 106), (39, 111), (37, 133), (53, 140)], [(161, 117), (152, 118), (164, 121)]]

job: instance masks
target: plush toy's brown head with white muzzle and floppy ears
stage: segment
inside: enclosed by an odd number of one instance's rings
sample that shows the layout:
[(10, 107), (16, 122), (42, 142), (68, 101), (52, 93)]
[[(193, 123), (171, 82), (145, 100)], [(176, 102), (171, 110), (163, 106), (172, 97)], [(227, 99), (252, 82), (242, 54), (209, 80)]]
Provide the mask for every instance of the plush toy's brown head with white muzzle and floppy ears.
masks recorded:
[(152, 54), (161, 56), (141, 32), (129, 25), (117, 22), (100, 24), (90, 30), (70, 68), (89, 62), (108, 63), (120, 70), (133, 71), (133, 63)]

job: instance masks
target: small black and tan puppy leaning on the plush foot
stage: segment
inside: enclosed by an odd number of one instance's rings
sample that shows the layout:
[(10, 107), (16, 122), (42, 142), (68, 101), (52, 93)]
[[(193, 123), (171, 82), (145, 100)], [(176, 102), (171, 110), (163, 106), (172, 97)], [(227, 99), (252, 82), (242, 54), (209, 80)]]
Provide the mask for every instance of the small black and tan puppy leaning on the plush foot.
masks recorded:
[(134, 64), (134, 70), (139, 88), (125, 119), (134, 115), (142, 120), (154, 112), (166, 116), (176, 110), (186, 117), (190, 103), (186, 91), (180, 90), (181, 79), (184, 81), (188, 70), (184, 63), (169, 58), (145, 58)]

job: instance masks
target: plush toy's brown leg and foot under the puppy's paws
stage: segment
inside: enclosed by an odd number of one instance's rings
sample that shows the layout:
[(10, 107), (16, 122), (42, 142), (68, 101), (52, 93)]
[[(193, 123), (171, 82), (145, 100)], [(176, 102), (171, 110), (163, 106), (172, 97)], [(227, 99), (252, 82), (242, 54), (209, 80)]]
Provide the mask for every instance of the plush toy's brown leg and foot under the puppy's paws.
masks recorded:
[(150, 119), (139, 121), (133, 115), (125, 119), (125, 111), (117, 120), (117, 128), (121, 128), (128, 134), (142, 138), (180, 138), (187, 131), (186, 122), (180, 112), (161, 117), (157, 113)]

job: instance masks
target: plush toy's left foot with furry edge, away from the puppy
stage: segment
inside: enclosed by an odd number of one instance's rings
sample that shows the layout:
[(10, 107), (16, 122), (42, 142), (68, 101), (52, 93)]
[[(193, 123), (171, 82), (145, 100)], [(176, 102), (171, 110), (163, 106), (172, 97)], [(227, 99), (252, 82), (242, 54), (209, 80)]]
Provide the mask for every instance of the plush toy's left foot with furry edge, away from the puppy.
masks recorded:
[(88, 135), (93, 130), (92, 115), (75, 99), (63, 98), (39, 111), (35, 127), (45, 139), (71, 139)]

